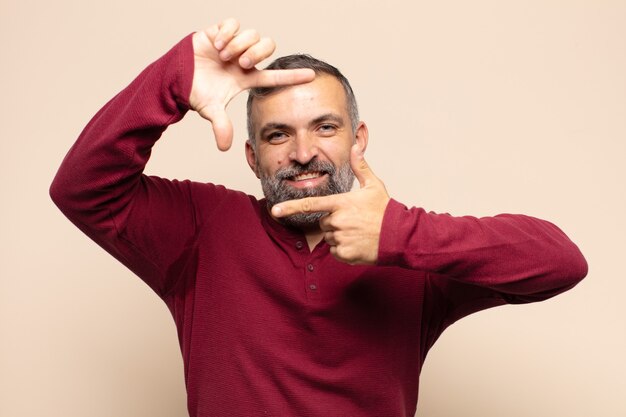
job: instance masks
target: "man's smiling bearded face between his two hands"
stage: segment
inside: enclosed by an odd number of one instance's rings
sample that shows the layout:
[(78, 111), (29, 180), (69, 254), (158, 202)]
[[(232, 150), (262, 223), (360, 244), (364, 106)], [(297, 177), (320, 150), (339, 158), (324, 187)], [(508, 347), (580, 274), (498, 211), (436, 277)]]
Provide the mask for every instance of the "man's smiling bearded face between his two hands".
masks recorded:
[[(350, 191), (350, 148), (365, 149), (367, 128), (352, 131), (344, 89), (334, 77), (257, 97), (251, 112), (255, 145), (246, 144), (250, 167), (261, 180), (269, 207), (281, 201)], [(284, 222), (315, 228), (324, 213), (299, 214)]]

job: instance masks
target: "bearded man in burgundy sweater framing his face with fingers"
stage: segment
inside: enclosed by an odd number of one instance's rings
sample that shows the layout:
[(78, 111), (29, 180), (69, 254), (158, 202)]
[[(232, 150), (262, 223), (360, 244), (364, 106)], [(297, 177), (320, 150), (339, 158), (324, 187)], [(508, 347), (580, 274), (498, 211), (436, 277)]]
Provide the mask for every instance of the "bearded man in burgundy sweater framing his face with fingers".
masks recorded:
[[(347, 80), (306, 56), (256, 70), (273, 49), (234, 20), (185, 38), (92, 119), (51, 195), (171, 310), (191, 416), (412, 416), (448, 325), (552, 297), (586, 262), (542, 220), (391, 199)], [(248, 88), (246, 158), (266, 199), (142, 174), (188, 109), (228, 149), (224, 108)]]

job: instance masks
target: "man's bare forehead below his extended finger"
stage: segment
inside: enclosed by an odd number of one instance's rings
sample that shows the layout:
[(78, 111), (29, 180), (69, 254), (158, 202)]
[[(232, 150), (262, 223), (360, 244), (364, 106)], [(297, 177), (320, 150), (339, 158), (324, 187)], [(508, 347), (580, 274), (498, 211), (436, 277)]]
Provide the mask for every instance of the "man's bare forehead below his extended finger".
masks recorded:
[(338, 114), (347, 120), (346, 100), (343, 86), (335, 77), (318, 75), (309, 83), (255, 97), (251, 116), (257, 132), (266, 123), (298, 126), (327, 113)]

